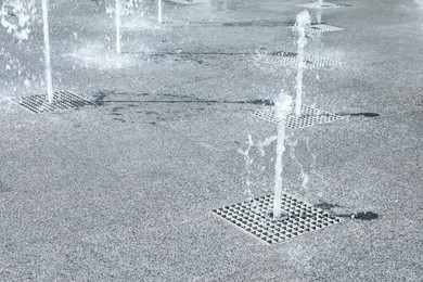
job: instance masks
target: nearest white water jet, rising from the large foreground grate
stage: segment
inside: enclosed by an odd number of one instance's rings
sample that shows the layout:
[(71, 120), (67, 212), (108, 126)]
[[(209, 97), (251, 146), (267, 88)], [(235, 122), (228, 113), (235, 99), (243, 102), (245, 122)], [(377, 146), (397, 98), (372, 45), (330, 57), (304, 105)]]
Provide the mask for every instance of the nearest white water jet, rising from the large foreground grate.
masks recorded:
[(285, 151), (285, 119), (291, 112), (292, 98), (281, 92), (279, 99), (274, 101), (275, 115), (278, 119), (278, 144), (277, 159), (274, 165), (274, 200), (273, 200), (273, 218), (279, 219), (282, 215), (282, 156)]

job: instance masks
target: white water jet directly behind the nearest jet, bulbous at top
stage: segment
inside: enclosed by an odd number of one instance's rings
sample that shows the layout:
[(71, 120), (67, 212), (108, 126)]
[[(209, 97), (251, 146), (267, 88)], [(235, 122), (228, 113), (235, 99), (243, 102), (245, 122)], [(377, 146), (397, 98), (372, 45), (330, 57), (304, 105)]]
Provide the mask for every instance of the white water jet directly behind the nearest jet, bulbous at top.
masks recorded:
[(300, 117), (303, 103), (303, 72), (304, 72), (304, 47), (307, 43), (306, 28), (310, 26), (311, 20), (308, 11), (303, 11), (297, 15), (295, 29), (298, 33), (298, 55), (297, 55), (297, 76), (296, 76), (296, 101), (295, 115)]

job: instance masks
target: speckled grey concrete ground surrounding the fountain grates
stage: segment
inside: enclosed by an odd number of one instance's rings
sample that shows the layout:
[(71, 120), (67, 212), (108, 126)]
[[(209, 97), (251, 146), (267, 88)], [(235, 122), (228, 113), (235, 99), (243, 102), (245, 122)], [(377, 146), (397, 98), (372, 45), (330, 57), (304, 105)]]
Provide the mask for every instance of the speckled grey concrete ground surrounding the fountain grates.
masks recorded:
[(289, 193), (377, 218), (272, 245), (211, 209), (272, 191), (274, 143), (249, 168), (239, 151), (275, 134), (257, 100), (294, 94), (295, 70), (271, 53), (296, 51), (304, 1), (165, 2), (163, 25), (143, 3), (123, 17), (121, 54), (113, 1), (50, 2), (54, 87), (97, 105), (13, 102), (44, 93), (40, 14), (21, 44), (1, 29), (0, 281), (423, 281), (416, 2), (333, 0), (346, 7), (322, 22), (345, 30), (306, 52), (344, 66), (307, 70), (304, 99), (345, 118), (287, 131)]

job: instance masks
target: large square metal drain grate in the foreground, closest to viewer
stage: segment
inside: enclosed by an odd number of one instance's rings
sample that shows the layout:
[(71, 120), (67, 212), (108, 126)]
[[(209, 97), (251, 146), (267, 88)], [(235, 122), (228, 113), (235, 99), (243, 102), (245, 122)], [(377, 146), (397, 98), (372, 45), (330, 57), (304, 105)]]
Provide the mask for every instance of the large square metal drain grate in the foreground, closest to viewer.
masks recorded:
[(273, 195), (266, 195), (217, 208), (213, 213), (268, 244), (279, 243), (341, 222), (339, 218), (287, 194), (282, 195), (282, 209), (289, 214), (286, 218), (273, 220), (270, 217), (272, 206)]

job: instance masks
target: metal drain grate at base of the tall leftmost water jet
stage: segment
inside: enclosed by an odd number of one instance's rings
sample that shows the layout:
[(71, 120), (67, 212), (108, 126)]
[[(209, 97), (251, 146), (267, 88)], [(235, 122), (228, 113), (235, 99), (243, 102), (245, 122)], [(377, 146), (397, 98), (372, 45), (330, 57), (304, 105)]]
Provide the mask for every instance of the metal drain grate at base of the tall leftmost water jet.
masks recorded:
[(54, 102), (51, 104), (47, 102), (47, 95), (20, 97), (15, 98), (14, 101), (37, 114), (94, 104), (90, 100), (69, 91), (54, 92)]

